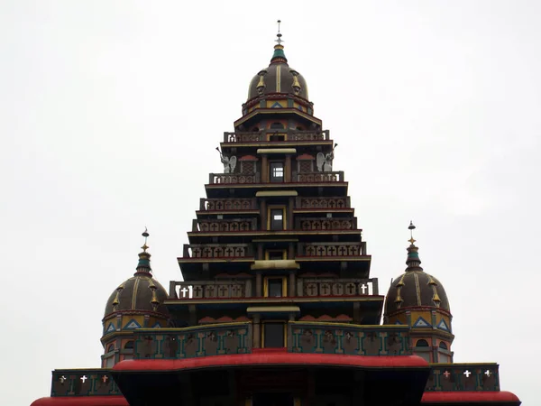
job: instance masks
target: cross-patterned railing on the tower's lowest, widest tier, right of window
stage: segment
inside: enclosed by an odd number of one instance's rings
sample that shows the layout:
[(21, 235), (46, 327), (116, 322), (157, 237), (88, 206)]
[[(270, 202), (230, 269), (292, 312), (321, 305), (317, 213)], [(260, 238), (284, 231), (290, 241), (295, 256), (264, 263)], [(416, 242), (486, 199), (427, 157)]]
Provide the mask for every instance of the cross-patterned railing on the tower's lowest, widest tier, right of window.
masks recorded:
[(298, 296), (378, 295), (378, 279), (298, 278)]

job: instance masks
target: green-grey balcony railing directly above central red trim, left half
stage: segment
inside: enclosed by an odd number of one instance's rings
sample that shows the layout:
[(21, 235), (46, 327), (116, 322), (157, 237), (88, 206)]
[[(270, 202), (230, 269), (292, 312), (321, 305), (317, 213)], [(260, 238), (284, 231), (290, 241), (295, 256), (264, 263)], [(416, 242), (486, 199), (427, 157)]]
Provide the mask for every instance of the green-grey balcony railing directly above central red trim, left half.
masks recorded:
[(252, 352), (252, 323), (137, 330), (135, 338), (135, 359), (246, 354)]

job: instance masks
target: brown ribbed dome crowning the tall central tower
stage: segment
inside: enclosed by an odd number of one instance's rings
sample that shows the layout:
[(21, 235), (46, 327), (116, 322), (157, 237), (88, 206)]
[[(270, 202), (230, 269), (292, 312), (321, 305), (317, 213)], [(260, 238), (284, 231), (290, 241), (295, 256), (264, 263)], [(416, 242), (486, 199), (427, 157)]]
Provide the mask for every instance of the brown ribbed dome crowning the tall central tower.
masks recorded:
[(271, 64), (252, 78), (248, 100), (276, 93), (290, 93), (308, 100), (307, 81), (297, 70), (289, 68), (282, 45), (275, 45)]

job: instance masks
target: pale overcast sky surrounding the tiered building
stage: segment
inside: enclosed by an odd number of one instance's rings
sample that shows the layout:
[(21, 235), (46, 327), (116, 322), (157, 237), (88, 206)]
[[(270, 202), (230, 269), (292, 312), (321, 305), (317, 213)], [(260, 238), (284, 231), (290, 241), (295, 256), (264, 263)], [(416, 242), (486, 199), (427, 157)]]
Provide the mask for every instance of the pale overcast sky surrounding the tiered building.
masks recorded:
[(408, 222), (445, 284), (455, 362), (498, 362), (538, 402), (541, 31), (538, 1), (0, 0), (3, 404), (98, 367), (105, 301), (149, 227), (167, 286), (215, 146), (271, 59), (339, 143), (335, 171), (386, 291)]

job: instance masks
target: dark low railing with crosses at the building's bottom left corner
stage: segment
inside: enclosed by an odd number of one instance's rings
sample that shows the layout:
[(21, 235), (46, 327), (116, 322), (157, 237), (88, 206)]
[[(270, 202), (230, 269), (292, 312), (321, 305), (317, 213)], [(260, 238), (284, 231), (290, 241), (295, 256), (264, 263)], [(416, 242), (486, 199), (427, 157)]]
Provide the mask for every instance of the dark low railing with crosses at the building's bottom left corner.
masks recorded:
[(122, 395), (109, 369), (56, 369), (52, 372), (50, 396)]

